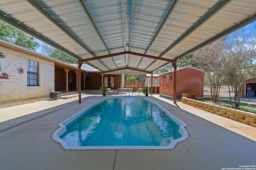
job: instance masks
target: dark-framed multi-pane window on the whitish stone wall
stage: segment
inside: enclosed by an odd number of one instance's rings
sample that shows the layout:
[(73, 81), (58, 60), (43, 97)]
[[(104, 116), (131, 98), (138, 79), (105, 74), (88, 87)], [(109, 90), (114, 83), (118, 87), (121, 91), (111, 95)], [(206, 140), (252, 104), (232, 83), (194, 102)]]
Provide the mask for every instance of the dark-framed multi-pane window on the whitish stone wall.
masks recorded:
[(28, 86), (39, 86), (38, 62), (27, 60)]

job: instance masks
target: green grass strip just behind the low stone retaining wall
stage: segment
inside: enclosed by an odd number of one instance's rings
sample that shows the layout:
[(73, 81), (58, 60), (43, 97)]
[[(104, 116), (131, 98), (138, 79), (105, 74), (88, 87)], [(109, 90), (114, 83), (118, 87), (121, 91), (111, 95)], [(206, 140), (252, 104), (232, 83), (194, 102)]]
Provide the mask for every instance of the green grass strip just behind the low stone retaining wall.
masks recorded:
[[(216, 103), (212, 102), (212, 100), (207, 99), (207, 98), (202, 98), (202, 99), (198, 99), (198, 100), (200, 100), (202, 102), (207, 102), (207, 103), (211, 103), (211, 104), (216, 104), (216, 105), (232, 108), (230, 102), (229, 101), (225, 101), (225, 100), (219, 100)], [(233, 106), (235, 106), (235, 102), (232, 102), (232, 104), (233, 104)], [(234, 108), (234, 109), (239, 109), (239, 110), (242, 110), (242, 111), (248, 111), (248, 112), (251, 112), (251, 113), (256, 113), (256, 106), (251, 105), (249, 107), (248, 104), (244, 104), (244, 103), (240, 103), (239, 108)]]

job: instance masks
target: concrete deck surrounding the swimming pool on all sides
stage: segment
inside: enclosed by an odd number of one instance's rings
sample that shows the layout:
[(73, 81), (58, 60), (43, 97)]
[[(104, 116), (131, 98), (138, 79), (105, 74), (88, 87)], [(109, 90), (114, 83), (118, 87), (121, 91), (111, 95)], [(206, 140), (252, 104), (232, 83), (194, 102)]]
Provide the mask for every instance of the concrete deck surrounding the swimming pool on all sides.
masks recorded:
[(86, 94), (82, 104), (69, 98), (0, 109), (0, 169), (222, 170), (256, 165), (255, 127), (159, 95), (148, 98), (187, 124), (188, 139), (174, 149), (64, 150), (52, 139), (58, 124), (100, 98)]

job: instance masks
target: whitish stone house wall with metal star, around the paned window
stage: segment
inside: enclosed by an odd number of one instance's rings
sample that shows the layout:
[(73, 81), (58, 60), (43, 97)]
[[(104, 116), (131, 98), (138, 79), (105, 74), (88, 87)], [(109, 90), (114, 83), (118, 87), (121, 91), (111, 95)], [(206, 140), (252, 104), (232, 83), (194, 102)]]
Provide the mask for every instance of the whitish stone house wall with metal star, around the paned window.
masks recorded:
[[(0, 78), (0, 102), (49, 96), (54, 91), (54, 63), (0, 46), (5, 58), (0, 59), (3, 72), (10, 79)], [(39, 63), (39, 86), (27, 86), (27, 59)], [(23, 68), (20, 74), (18, 68)], [(2, 72), (0, 72), (2, 74)]]

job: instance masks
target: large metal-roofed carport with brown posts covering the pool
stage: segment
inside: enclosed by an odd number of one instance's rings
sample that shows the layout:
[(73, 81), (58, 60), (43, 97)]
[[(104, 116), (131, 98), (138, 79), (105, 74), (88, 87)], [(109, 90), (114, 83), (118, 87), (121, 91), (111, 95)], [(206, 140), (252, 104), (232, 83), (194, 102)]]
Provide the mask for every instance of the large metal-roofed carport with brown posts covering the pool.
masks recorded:
[(255, 9), (255, 0), (1, 0), (0, 20), (75, 57), (79, 68), (145, 74), (168, 63), (176, 72), (177, 59), (252, 23)]

